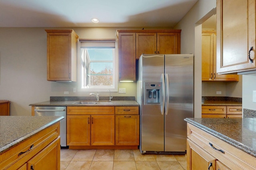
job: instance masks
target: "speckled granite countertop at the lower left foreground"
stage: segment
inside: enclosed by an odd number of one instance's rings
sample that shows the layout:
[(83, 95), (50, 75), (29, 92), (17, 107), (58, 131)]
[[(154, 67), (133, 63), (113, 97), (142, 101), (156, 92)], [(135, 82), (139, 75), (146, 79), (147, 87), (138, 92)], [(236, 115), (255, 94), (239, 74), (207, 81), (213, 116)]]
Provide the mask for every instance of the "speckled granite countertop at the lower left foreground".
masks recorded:
[(0, 116), (0, 154), (62, 119), (63, 116)]

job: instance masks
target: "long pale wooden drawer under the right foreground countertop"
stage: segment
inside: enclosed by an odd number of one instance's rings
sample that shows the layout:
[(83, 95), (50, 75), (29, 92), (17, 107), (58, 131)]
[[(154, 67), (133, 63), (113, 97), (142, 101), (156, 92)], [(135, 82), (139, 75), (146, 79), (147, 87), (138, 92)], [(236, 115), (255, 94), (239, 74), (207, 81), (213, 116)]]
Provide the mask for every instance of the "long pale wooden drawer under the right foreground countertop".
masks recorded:
[[(190, 123), (187, 123), (187, 129), (188, 139), (225, 164), (228, 168), (232, 170), (256, 169), (255, 157), (233, 147), (205, 131), (202, 131)], [(210, 146), (210, 143), (212, 144), (212, 147)]]

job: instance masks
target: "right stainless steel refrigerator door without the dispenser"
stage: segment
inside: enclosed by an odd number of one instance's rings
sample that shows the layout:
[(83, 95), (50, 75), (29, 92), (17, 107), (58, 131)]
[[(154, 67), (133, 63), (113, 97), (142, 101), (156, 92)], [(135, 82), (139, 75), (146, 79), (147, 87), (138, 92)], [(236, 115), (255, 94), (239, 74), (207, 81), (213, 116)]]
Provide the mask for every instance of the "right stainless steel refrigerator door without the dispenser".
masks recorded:
[(185, 152), (186, 117), (193, 117), (193, 55), (165, 55), (168, 74), (168, 113), (165, 114), (165, 151)]

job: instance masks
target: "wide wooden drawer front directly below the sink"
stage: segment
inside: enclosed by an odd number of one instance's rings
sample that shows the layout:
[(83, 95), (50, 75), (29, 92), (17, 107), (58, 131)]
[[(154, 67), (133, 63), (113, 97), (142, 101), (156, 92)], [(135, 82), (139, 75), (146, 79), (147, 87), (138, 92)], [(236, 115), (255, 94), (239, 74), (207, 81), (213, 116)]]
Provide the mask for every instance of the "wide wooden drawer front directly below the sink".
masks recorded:
[(114, 106), (68, 106), (67, 115), (114, 115)]

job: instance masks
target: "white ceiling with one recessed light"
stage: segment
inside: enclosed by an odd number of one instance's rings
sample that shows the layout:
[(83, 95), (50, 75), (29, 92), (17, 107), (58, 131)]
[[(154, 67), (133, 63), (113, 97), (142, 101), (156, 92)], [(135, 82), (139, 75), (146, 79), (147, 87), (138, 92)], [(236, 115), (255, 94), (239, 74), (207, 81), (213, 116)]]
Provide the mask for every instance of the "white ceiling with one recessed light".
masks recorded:
[(0, 0), (0, 27), (173, 27), (197, 1)]

